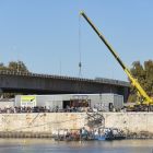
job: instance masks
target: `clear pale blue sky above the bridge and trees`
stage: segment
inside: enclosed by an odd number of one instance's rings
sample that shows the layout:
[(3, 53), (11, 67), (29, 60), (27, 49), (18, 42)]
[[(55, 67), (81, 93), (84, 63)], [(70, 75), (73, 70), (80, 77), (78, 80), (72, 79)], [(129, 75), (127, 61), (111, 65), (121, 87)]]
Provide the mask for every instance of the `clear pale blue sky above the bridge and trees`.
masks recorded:
[(0, 0), (0, 62), (21, 60), (34, 73), (127, 81), (79, 12), (131, 68), (153, 60), (152, 8), (152, 0)]

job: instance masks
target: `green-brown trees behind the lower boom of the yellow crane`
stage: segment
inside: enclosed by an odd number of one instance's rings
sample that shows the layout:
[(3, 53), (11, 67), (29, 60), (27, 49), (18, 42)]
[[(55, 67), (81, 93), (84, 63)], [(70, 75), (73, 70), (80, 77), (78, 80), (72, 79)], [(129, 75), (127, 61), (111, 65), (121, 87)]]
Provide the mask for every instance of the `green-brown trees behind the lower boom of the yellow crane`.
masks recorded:
[[(153, 60), (144, 61), (143, 66), (140, 61), (134, 61), (130, 71), (149, 96), (153, 96)], [(134, 102), (136, 97), (137, 90), (131, 85), (129, 102)]]

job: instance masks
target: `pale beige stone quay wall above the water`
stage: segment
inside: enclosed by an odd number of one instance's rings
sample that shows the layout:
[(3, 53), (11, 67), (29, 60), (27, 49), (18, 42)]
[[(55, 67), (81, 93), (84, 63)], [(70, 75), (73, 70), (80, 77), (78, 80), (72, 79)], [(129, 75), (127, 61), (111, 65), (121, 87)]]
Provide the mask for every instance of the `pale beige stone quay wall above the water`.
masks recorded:
[[(126, 133), (153, 133), (153, 113), (103, 113), (105, 127)], [(87, 123), (85, 113), (0, 114), (0, 132), (52, 133), (58, 129), (80, 129)]]

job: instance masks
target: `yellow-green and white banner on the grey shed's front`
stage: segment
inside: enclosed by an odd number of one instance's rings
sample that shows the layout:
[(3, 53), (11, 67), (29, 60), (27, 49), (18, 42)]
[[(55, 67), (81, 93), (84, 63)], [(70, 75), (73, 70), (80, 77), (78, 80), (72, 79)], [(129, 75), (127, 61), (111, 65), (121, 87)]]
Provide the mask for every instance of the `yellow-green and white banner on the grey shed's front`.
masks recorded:
[(21, 96), (21, 106), (25, 106), (25, 107), (36, 106), (36, 96), (32, 96), (32, 95)]

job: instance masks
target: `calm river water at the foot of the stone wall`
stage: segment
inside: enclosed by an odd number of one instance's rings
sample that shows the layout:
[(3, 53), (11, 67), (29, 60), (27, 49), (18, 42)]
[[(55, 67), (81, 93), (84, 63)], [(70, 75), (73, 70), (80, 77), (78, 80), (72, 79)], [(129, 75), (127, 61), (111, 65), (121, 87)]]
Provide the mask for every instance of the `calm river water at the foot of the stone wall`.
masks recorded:
[(0, 153), (153, 153), (153, 140), (56, 142), (49, 139), (0, 139)]

